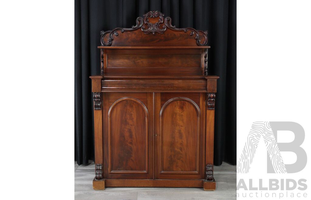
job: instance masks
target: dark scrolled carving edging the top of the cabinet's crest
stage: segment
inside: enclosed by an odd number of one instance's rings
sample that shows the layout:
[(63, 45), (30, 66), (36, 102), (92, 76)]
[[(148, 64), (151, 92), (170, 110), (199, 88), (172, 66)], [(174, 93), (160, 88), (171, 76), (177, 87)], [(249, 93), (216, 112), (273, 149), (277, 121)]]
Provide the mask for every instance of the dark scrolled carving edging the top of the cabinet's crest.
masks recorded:
[[(195, 39), (197, 40), (198, 46), (206, 46), (207, 45), (207, 31), (201, 31), (196, 30), (193, 28), (176, 28), (176, 26), (172, 25), (172, 19), (170, 17), (165, 17), (163, 19), (164, 14), (160, 11), (149, 11), (146, 14), (143, 15), (144, 19), (142, 17), (137, 17), (136, 19), (136, 25), (132, 26), (132, 28), (115, 28), (113, 30), (109, 31), (101, 31), (100, 32), (100, 42), (101, 46), (111, 46), (112, 41), (114, 40), (113, 35), (116, 37), (119, 35), (118, 31), (121, 33), (124, 33), (124, 31), (135, 31), (137, 29), (141, 29), (143, 33), (148, 34), (152, 33), (155, 35), (155, 33), (164, 33), (166, 29), (171, 29), (173, 31), (183, 31), (187, 33), (190, 31), (190, 36), (195, 36)], [(159, 22), (156, 22), (155, 24), (149, 22), (148, 18), (159, 18)], [(105, 35), (108, 34), (108, 40), (107, 42), (104, 41)], [(200, 34), (203, 37), (203, 42), (201, 41)]]

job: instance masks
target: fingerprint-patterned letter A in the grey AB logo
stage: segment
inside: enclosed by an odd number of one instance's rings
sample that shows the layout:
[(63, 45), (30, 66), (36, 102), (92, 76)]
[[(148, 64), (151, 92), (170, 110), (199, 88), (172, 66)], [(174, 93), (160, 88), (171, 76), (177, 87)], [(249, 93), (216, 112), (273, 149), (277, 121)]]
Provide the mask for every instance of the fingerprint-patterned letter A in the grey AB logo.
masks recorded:
[(261, 137), (267, 147), (275, 173), (287, 173), (269, 122), (253, 122), (237, 165), (237, 173), (248, 173)]

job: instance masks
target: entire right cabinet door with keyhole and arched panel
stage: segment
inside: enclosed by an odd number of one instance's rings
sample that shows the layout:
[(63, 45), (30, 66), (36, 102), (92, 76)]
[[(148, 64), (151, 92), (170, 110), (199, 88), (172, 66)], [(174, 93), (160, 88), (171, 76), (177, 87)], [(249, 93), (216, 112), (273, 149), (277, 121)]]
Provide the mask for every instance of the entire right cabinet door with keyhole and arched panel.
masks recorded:
[(203, 179), (206, 93), (155, 93), (155, 178)]

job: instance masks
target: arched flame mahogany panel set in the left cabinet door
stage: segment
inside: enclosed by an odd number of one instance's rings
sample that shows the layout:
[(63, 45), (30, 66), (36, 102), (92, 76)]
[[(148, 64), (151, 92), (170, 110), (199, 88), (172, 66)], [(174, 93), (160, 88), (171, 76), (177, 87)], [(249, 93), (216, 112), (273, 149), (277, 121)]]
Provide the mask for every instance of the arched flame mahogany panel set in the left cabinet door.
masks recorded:
[(136, 98), (121, 98), (108, 113), (110, 173), (147, 173), (148, 111)]

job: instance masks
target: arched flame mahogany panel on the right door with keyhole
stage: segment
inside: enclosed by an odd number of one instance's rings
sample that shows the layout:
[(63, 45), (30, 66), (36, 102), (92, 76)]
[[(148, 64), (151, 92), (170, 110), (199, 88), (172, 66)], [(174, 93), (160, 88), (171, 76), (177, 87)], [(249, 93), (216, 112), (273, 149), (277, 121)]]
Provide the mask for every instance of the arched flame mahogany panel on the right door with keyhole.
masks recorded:
[(160, 173), (193, 173), (199, 169), (200, 110), (191, 101), (173, 100), (160, 113)]

